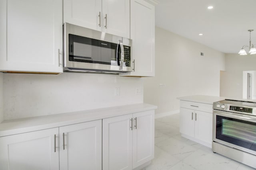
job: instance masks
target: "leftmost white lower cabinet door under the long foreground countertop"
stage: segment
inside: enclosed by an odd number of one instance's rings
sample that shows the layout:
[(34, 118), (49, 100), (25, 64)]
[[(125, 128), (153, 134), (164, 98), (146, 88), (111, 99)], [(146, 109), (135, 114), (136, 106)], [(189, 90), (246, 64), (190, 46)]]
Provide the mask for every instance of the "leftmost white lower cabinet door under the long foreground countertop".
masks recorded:
[(0, 137), (1, 170), (59, 170), (58, 127)]

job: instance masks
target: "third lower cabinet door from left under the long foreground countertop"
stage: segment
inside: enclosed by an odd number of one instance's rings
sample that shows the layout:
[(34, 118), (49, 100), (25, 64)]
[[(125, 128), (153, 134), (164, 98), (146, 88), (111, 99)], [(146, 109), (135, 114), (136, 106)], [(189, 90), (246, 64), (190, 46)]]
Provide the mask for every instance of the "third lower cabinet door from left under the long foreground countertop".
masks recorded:
[(132, 169), (132, 114), (103, 119), (102, 169)]

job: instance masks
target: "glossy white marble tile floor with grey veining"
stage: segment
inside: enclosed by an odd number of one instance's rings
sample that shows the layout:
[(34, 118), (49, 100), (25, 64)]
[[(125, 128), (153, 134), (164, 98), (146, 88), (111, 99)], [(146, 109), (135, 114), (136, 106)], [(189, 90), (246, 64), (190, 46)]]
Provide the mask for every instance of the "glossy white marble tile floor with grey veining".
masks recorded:
[(179, 114), (155, 119), (155, 157), (143, 170), (255, 170), (179, 132)]

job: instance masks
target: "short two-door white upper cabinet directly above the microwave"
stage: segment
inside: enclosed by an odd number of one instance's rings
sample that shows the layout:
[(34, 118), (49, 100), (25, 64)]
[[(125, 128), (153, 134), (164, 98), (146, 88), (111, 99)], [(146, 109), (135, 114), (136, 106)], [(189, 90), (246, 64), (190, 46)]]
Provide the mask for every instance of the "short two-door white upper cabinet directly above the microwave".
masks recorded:
[(130, 38), (130, 0), (64, 0), (64, 22)]

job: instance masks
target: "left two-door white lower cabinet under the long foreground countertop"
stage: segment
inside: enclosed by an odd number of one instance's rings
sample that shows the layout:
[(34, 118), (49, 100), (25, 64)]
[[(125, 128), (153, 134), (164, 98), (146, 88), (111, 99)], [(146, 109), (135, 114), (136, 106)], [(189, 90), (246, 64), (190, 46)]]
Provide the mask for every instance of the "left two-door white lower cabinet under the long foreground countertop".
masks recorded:
[(101, 170), (102, 120), (0, 137), (0, 170)]

